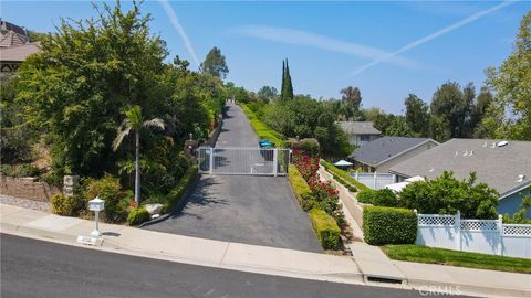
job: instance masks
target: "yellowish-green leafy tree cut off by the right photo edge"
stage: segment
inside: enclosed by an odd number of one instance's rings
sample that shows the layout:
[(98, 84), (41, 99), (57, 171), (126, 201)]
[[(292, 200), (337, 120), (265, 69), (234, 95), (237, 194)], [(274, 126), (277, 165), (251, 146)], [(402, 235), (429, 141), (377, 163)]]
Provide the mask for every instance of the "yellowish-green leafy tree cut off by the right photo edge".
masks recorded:
[(531, 12), (520, 23), (513, 49), (500, 67), (486, 71), (496, 96), (483, 126), (492, 137), (531, 140)]

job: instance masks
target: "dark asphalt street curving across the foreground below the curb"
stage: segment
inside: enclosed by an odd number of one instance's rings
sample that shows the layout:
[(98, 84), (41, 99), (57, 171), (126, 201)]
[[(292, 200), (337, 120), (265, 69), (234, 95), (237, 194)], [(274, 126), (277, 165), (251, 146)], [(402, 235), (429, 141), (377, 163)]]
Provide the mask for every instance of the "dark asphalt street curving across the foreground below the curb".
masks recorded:
[(1, 234), (1, 297), (419, 297), (183, 265)]

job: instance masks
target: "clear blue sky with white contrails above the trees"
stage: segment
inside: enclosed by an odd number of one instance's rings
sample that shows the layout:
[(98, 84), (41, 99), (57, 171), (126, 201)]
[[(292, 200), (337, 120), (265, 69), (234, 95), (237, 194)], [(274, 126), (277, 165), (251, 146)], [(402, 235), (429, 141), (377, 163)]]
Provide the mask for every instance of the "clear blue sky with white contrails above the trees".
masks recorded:
[[(499, 1), (147, 1), (154, 33), (197, 67), (212, 46), (227, 57), (228, 79), (251, 91), (279, 88), (289, 58), (295, 93), (340, 97), (362, 91), (364, 107), (400, 113), (415, 93), (431, 99), (447, 81), (483, 84), (483, 71), (512, 51), (531, 2)], [(131, 3), (124, 2), (127, 8)], [(6, 1), (2, 20), (49, 32), (61, 17), (94, 14), (88, 1)], [(175, 15), (176, 18), (174, 18)], [(187, 41), (188, 42), (187, 42)]]

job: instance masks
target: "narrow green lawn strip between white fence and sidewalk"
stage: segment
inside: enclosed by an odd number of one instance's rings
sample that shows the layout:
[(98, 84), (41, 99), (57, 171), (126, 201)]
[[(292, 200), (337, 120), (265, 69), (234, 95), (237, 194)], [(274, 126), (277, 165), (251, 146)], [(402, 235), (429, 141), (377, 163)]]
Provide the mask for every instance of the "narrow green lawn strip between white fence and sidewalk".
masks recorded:
[(451, 265), (459, 267), (531, 274), (531, 259), (467, 253), (421, 245), (385, 245), (382, 247), (392, 259)]

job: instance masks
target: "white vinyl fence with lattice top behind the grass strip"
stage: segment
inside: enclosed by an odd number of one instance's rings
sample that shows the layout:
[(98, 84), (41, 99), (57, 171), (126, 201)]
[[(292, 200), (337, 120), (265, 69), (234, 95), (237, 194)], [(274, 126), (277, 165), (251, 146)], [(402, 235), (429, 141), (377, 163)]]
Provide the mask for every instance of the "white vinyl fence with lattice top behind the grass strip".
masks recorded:
[(531, 224), (462, 220), (456, 215), (417, 214), (415, 244), (464, 252), (531, 258)]

